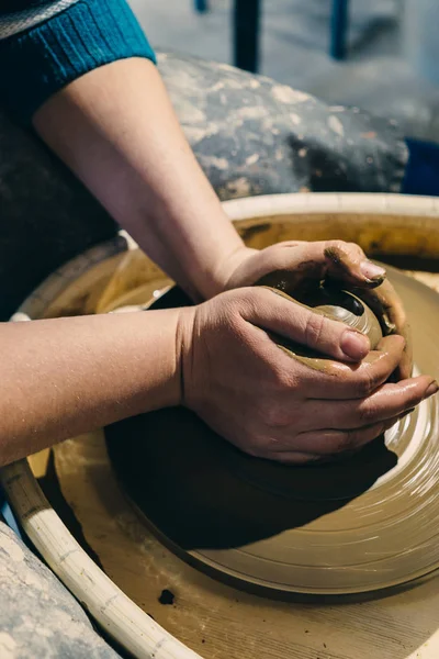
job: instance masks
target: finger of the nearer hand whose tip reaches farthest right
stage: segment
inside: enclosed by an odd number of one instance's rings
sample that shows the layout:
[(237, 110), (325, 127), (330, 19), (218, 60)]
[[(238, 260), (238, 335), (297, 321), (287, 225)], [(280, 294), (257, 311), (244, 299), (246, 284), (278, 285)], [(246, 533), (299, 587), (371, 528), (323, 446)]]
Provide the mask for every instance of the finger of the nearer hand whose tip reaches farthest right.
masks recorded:
[(361, 429), (404, 414), (437, 391), (438, 384), (430, 376), (419, 376), (397, 384), (383, 384), (363, 400), (331, 401), (330, 404), (313, 401), (307, 405), (307, 415), (312, 424), (317, 424), (315, 429), (318, 426)]

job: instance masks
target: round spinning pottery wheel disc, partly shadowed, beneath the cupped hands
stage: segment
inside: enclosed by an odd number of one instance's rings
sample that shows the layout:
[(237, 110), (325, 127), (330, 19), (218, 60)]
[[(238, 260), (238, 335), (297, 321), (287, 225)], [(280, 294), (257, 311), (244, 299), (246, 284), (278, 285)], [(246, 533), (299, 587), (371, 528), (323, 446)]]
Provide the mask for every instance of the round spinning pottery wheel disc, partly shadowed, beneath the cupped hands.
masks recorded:
[[(410, 320), (415, 369), (439, 378), (439, 295), (389, 269)], [(187, 304), (178, 289), (154, 309)], [(106, 429), (110, 459), (148, 525), (181, 558), (247, 589), (345, 594), (439, 567), (438, 396), (353, 458), (251, 458), (184, 409)]]

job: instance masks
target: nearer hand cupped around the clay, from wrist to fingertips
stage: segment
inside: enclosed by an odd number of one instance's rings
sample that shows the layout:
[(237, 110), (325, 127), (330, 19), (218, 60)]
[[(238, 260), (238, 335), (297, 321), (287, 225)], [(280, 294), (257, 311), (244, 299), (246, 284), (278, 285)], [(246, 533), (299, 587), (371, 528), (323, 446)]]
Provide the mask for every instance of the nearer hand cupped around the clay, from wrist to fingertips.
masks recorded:
[[(331, 357), (316, 370), (269, 333)], [(241, 450), (282, 462), (352, 451), (438, 390), (429, 376), (386, 383), (404, 338), (376, 350), (345, 324), (263, 288), (181, 310), (182, 404)]]

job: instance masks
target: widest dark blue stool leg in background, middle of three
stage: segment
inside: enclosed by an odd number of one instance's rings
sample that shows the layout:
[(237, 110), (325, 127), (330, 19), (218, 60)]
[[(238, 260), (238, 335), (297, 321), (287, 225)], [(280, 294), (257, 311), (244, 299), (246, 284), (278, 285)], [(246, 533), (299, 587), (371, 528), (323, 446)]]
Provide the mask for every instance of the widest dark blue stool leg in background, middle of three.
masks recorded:
[(233, 15), (234, 64), (258, 72), (261, 0), (235, 0)]

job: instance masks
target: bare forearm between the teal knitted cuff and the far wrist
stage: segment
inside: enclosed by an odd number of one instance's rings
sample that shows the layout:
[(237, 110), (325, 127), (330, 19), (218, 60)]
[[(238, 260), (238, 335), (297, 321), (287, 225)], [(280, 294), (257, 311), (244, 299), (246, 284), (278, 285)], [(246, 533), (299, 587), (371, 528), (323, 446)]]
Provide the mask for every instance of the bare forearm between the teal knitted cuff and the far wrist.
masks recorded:
[(243, 243), (150, 62), (115, 62), (82, 76), (35, 113), (34, 126), (193, 299), (224, 288)]

